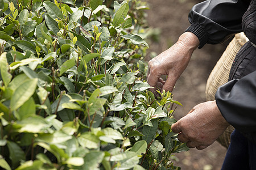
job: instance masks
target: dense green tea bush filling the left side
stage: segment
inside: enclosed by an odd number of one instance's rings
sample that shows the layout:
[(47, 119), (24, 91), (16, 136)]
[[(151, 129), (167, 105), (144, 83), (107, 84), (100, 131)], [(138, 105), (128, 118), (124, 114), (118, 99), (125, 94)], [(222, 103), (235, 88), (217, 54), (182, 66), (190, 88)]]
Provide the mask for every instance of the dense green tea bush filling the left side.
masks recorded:
[(179, 169), (170, 92), (143, 59), (145, 2), (0, 0), (0, 167)]

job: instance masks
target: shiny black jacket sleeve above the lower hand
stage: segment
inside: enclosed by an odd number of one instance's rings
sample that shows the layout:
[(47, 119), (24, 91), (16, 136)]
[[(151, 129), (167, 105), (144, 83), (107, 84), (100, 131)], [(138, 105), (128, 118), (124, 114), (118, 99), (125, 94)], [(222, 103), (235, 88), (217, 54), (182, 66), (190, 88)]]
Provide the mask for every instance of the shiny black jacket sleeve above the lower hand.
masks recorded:
[(230, 125), (242, 133), (256, 131), (256, 71), (218, 88), (215, 99)]

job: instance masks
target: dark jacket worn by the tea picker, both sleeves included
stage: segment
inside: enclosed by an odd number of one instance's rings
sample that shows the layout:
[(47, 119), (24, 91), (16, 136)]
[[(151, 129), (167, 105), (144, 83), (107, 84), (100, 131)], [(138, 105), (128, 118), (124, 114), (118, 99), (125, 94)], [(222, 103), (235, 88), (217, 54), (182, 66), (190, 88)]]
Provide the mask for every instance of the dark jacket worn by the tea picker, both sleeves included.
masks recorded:
[(229, 82), (218, 88), (215, 98), (226, 121), (256, 143), (256, 0), (204, 1), (192, 8), (189, 22), (187, 31), (199, 38), (199, 48), (241, 31), (249, 38), (234, 59)]

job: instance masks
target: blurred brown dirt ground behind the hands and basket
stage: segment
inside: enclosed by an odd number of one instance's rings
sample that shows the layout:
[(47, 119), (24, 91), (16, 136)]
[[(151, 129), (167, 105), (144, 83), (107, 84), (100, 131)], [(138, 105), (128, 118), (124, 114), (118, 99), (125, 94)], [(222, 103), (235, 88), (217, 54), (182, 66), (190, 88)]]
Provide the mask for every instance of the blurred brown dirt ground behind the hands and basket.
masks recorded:
[[(160, 31), (158, 41), (150, 42), (150, 52), (160, 54), (174, 44), (179, 35), (189, 27), (188, 13), (192, 6), (200, 0), (145, 0), (150, 6), (147, 11), (147, 21), (151, 28)], [(204, 102), (205, 85), (210, 71), (224, 52), (226, 45), (205, 45), (193, 53), (187, 69), (177, 81), (173, 91), (174, 99), (180, 101), (183, 107), (178, 107), (174, 113), (176, 119), (187, 114), (196, 104)], [(214, 142), (205, 150), (195, 148), (188, 152), (176, 154), (175, 165), (182, 170), (216, 170), (221, 169), (226, 148)]]

